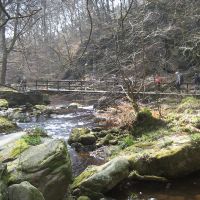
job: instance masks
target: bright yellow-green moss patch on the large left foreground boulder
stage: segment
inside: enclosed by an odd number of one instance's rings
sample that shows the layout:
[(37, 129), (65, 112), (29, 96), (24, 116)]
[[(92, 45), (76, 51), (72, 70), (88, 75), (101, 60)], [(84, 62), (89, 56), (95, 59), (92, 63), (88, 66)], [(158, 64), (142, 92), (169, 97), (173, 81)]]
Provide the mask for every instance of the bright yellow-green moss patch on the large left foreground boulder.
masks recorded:
[(23, 151), (29, 148), (29, 145), (24, 139), (17, 140), (15, 146), (11, 151), (11, 157), (15, 158), (20, 155)]

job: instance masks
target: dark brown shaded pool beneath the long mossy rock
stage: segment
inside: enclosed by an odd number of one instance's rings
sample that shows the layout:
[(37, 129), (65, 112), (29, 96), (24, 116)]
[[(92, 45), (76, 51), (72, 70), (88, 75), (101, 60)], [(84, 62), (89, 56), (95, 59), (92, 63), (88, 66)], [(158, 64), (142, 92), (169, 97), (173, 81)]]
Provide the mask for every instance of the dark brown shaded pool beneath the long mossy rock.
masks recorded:
[(109, 196), (118, 200), (200, 200), (200, 172), (169, 183), (122, 184)]

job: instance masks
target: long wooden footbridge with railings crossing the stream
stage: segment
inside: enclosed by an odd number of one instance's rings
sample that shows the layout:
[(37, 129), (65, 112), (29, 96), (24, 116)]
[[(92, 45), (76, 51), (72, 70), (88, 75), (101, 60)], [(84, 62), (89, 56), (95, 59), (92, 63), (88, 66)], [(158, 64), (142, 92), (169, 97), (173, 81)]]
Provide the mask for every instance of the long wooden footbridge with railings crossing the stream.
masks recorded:
[[(48, 94), (74, 93), (74, 94), (125, 94), (126, 88), (122, 89), (122, 84), (114, 81), (85, 81), (85, 80), (36, 80), (28, 83), (21, 83), (17, 86), (19, 91), (40, 91)], [(174, 86), (171, 86), (163, 92), (160, 90), (150, 91), (149, 87), (143, 87), (139, 92), (133, 92), (138, 95), (159, 95), (159, 96), (199, 96), (200, 90), (192, 83), (184, 83), (181, 90), (177, 91)]]

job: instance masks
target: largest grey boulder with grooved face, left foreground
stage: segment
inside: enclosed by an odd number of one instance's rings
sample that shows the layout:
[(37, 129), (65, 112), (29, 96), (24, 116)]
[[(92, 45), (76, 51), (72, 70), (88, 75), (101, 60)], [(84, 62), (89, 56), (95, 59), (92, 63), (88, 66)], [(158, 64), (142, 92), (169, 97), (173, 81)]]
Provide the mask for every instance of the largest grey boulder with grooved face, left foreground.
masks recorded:
[(26, 180), (48, 200), (62, 200), (72, 180), (71, 161), (63, 140), (31, 146), (7, 164), (9, 184)]

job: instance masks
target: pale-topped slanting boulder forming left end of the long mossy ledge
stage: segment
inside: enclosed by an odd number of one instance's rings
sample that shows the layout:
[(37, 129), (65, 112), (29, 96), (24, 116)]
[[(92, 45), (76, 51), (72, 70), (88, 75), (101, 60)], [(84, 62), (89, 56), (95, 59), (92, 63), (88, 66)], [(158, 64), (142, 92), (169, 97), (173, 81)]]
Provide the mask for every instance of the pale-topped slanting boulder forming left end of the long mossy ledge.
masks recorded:
[(114, 188), (129, 175), (129, 162), (119, 157), (100, 166), (91, 167), (75, 178), (72, 190), (80, 189), (80, 195), (100, 199), (103, 193)]

